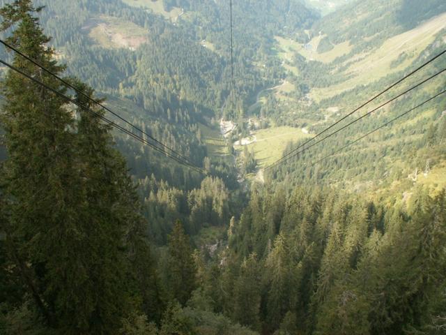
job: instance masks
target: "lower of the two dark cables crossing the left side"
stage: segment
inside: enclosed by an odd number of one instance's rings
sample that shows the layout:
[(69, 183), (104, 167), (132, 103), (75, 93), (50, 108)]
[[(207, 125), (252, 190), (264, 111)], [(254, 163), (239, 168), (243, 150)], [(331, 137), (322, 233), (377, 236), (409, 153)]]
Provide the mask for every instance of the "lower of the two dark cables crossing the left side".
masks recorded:
[(107, 117), (104, 117), (103, 115), (99, 114), (98, 112), (95, 112), (93, 110), (91, 110), (91, 108), (86, 107), (84, 105), (82, 105), (81, 103), (75, 101), (74, 99), (70, 98), (69, 96), (66, 96), (65, 94), (61, 93), (60, 91), (57, 91), (56, 89), (50, 87), (49, 85), (45, 84), (44, 82), (41, 82), (40, 80), (36, 79), (35, 77), (32, 77), (31, 75), (29, 75), (28, 73), (25, 73), (23, 70), (20, 70), (20, 68), (17, 68), (11, 64), (8, 64), (6, 61), (3, 61), (2, 59), (0, 59), (0, 64), (3, 64), (4, 66), (7, 66), (8, 68), (10, 68), (11, 70), (14, 70), (17, 73), (20, 73), (20, 75), (26, 77), (27, 79), (35, 82), (36, 84), (40, 85), (41, 87), (44, 87), (45, 89), (47, 89), (48, 91), (52, 91), (54, 94), (56, 94), (57, 96), (60, 96), (61, 98), (64, 98), (66, 101), (69, 101), (70, 103), (77, 105), (79, 108), (81, 108), (82, 110), (85, 110), (87, 112), (90, 112), (92, 114), (94, 114), (96, 117), (100, 118), (102, 121), (105, 121), (107, 124), (109, 124), (110, 126), (113, 126), (114, 128), (117, 128), (119, 131), (122, 131), (123, 133), (129, 135), (130, 137), (133, 137), (135, 140), (138, 140), (139, 142), (148, 145), (149, 147), (151, 147), (152, 149), (154, 149), (155, 151), (160, 152), (161, 154), (164, 154), (165, 156), (167, 156), (168, 158), (173, 159), (174, 161), (176, 161), (177, 163), (180, 163), (182, 165), (185, 165), (187, 168), (190, 168), (191, 170), (194, 170), (195, 172), (198, 172), (200, 174), (205, 174), (200, 168), (198, 168), (195, 165), (192, 165), (190, 163), (188, 163), (187, 161), (183, 161), (180, 158), (178, 158), (177, 156), (173, 156), (171, 154), (169, 154), (169, 152), (164, 151), (164, 149), (155, 146), (153, 143), (148, 142), (147, 140), (145, 140), (143, 137), (138, 136), (137, 134), (132, 133), (131, 131), (128, 131), (127, 129), (123, 128), (122, 126), (116, 124), (114, 121), (107, 119)]

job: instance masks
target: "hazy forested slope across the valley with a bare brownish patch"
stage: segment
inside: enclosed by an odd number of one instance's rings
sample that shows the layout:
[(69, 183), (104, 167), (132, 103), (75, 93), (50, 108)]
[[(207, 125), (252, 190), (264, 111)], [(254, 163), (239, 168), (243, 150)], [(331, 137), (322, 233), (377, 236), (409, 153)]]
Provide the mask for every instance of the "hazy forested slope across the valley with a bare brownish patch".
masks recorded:
[[(311, 23), (316, 13), (300, 1), (272, 1), (268, 5), (241, 1), (234, 17), (236, 59), (236, 105), (227, 100), (230, 87), (229, 8), (215, 1), (36, 1), (45, 6), (41, 20), (53, 36), (56, 57), (109, 97), (110, 107), (124, 106), (126, 117), (172, 149), (203, 165), (207, 156), (202, 125), (215, 127), (222, 114), (243, 117), (245, 105), (257, 90), (279, 80), (280, 73), (260, 70), (252, 63), (265, 58), (259, 43), (270, 45), (272, 31), (298, 29)], [(156, 6), (155, 6), (156, 5)], [(142, 8), (148, 8), (141, 10)], [(160, 13), (182, 8), (175, 22)], [(155, 9), (155, 10), (154, 10)], [(162, 12), (160, 12), (162, 10)], [(249, 20), (241, 20), (250, 12)], [(287, 15), (282, 15), (282, 13)], [(262, 29), (259, 29), (262, 27)], [(205, 42), (203, 42), (205, 41)], [(208, 44), (206, 44), (208, 43)], [(207, 46), (207, 47), (205, 47)], [(118, 99), (118, 100), (116, 100)], [(118, 140), (139, 178), (155, 172), (157, 178), (178, 184), (172, 167), (164, 160), (128, 140)], [(224, 149), (226, 151), (226, 148)], [(139, 152), (135, 158), (133, 153)], [(219, 163), (220, 161), (220, 163)], [(217, 158), (225, 177), (235, 174)], [(160, 168), (160, 165), (163, 168)], [(235, 180), (235, 177), (232, 177)], [(185, 171), (187, 188), (199, 185), (199, 177)], [(229, 181), (229, 183), (233, 181)]]

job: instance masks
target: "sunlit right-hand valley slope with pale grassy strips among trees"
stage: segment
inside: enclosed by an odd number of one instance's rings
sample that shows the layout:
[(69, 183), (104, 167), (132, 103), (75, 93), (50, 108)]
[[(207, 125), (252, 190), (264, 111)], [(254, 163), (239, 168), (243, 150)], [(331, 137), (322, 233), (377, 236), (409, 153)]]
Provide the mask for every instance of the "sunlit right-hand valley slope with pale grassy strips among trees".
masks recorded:
[[(372, 3), (373, 9), (367, 9)], [(284, 61), (284, 66), (295, 68), (288, 72), (286, 80), (300, 89), (285, 97), (277, 92), (270, 94), (265, 107), (274, 107), (265, 114), (278, 124), (305, 127), (316, 134), (445, 50), (444, 4), (428, 1), (423, 10), (415, 8), (406, 1), (357, 1), (315, 22), (304, 44), (291, 37), (277, 36), (282, 52), (292, 56), (291, 61)], [(442, 70), (445, 65), (444, 57), (436, 59), (332, 131)], [(334, 157), (316, 165), (312, 163), (440, 92), (444, 85), (443, 75), (426, 82), (346, 131), (312, 147), (304, 155), (279, 165), (273, 169), (272, 178), (294, 186), (330, 181), (352, 190), (387, 189), (398, 197), (410, 191), (413, 184), (443, 188), (444, 178), (432, 179), (429, 174), (438, 177), (444, 174), (444, 96)], [(298, 145), (288, 147), (287, 152), (296, 147)], [(424, 172), (424, 176), (418, 176), (420, 172)]]

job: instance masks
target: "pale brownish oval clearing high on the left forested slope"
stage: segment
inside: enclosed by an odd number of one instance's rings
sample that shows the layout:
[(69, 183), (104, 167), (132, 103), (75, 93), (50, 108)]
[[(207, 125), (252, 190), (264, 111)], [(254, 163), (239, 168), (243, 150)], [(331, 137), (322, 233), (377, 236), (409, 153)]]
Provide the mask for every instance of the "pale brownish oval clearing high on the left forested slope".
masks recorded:
[(89, 36), (102, 47), (134, 50), (148, 40), (148, 31), (133, 22), (102, 15), (92, 20)]

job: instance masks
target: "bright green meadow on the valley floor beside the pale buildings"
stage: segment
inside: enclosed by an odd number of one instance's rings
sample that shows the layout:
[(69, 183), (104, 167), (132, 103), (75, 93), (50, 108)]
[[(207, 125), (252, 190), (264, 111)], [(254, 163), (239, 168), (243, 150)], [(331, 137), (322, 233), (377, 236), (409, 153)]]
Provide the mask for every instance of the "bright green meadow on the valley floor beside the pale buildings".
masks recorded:
[[(302, 133), (301, 129), (288, 126), (261, 129), (260, 131), (256, 131), (254, 135), (257, 141), (248, 144), (247, 147), (249, 150), (254, 148), (257, 163), (261, 168), (281, 158), (286, 144), (309, 136)], [(236, 147), (236, 149), (243, 151), (243, 147), (241, 146)]]

